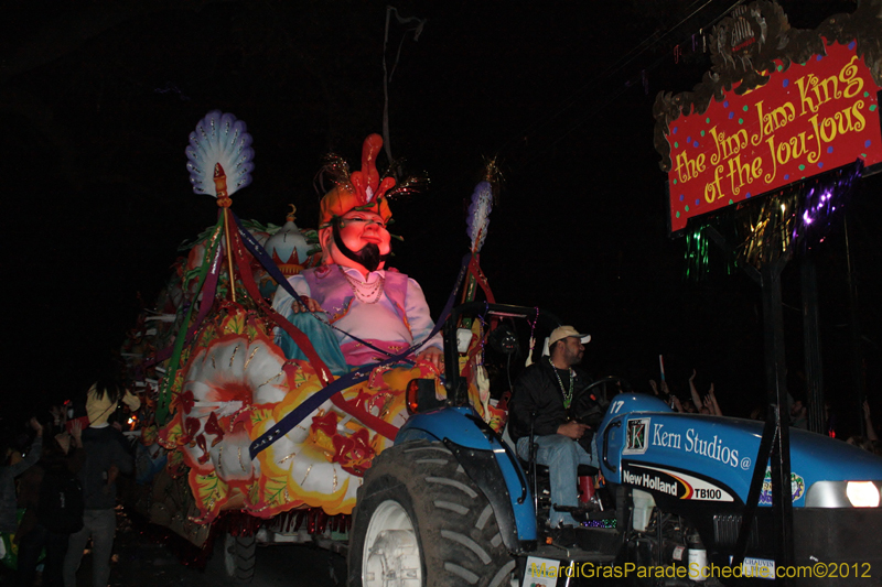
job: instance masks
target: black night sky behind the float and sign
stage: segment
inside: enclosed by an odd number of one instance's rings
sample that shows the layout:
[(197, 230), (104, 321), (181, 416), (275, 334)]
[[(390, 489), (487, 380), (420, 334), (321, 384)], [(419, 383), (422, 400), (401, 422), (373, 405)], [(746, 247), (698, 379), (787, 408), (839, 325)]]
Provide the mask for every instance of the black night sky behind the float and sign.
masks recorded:
[[(437, 315), (467, 249), (464, 209), (483, 157), (505, 182), (481, 264), (501, 303), (542, 306), (590, 331), (587, 367), (673, 384), (692, 368), (723, 410), (746, 415), (764, 389), (762, 303), (744, 275), (711, 265), (686, 281), (666, 220), (652, 107), (710, 67), (706, 32), (732, 2), (402, 2), (386, 66), (391, 151), (428, 192), (391, 204), (392, 265)], [(782, 2), (815, 28), (853, 2)], [(4, 410), (83, 393), (152, 304), (178, 246), (214, 225), (192, 193), (187, 135), (211, 110), (254, 137), (244, 219), (281, 225), (288, 204), (314, 227), (321, 157), (353, 169), (381, 132), (386, 3), (349, 1), (12, 2), (0, 24)], [(697, 50), (692, 51), (695, 39)], [(675, 47), (681, 52), (675, 58)], [(399, 53), (400, 48), (400, 53)], [(383, 166), (385, 159), (380, 159)], [(864, 384), (879, 401), (879, 181), (864, 180), (849, 247)], [(718, 251), (711, 251), (716, 253)], [(853, 417), (852, 307), (841, 226), (819, 263), (825, 383)], [(798, 260), (784, 275), (789, 384), (804, 384)], [(685, 389), (681, 391), (688, 393)]]

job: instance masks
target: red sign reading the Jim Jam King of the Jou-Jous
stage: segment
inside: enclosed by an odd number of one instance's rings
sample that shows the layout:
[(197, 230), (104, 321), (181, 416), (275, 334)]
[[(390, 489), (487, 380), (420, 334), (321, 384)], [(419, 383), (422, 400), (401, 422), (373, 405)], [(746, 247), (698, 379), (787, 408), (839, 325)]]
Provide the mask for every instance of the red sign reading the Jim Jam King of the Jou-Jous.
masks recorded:
[[(882, 162), (879, 86), (856, 43), (827, 45), (668, 128), (670, 227), (862, 159)], [(766, 72), (767, 74), (767, 72)]]

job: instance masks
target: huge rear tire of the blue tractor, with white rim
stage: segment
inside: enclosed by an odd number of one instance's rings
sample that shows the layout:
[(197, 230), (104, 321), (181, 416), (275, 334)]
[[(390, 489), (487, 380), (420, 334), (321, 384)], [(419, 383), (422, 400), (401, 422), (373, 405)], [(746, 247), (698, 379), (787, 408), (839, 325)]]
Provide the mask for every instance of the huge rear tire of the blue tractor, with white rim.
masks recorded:
[(384, 450), (358, 490), (349, 585), (508, 586), (515, 561), (493, 509), (441, 443)]

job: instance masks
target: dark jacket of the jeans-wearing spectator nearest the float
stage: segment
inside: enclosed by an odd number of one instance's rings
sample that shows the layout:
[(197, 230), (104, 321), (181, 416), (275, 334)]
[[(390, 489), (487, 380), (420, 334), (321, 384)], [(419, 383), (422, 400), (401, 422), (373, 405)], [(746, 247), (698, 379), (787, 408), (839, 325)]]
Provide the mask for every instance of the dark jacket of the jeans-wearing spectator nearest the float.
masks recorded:
[(110, 510), (117, 504), (117, 486), (107, 482), (107, 471), (116, 465), (119, 472), (131, 472), (132, 457), (119, 442), (120, 433), (112, 426), (88, 427), (83, 431), (86, 461), (79, 470), (83, 501), (87, 510)]

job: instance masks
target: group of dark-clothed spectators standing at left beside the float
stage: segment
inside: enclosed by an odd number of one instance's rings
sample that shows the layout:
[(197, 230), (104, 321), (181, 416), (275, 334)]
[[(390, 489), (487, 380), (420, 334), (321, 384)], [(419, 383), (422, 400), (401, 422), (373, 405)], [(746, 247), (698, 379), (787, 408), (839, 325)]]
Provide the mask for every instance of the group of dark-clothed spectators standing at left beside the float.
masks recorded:
[(121, 432), (123, 404), (139, 407), (117, 382), (100, 380), (84, 396), (30, 417), (28, 436), (22, 437), (23, 427), (6, 423), (0, 561), (15, 568), (15, 585), (76, 587), (84, 552), (92, 553), (93, 585), (107, 585), (116, 481), (133, 469)]

